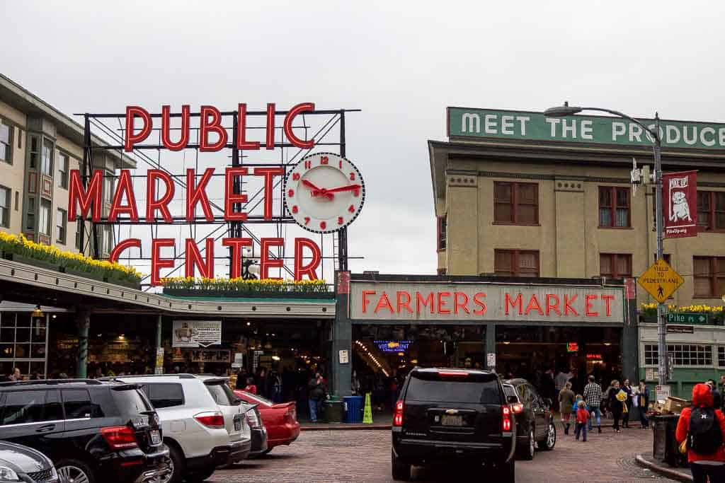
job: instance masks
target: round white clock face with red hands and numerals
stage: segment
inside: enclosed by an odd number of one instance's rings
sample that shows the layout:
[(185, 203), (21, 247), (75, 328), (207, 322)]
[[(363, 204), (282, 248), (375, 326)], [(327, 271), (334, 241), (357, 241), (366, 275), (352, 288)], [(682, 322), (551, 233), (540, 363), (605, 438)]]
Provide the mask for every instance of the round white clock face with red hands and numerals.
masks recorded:
[(335, 232), (360, 214), (365, 184), (355, 164), (338, 154), (309, 154), (287, 173), (284, 201), (305, 230)]

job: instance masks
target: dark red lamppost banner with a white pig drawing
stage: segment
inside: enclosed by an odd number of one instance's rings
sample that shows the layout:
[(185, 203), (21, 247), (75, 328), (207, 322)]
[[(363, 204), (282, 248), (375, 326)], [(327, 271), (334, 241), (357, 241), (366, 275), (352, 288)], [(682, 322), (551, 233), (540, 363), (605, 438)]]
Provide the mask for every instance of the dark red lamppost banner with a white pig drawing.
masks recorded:
[(665, 238), (697, 236), (697, 171), (662, 175)]

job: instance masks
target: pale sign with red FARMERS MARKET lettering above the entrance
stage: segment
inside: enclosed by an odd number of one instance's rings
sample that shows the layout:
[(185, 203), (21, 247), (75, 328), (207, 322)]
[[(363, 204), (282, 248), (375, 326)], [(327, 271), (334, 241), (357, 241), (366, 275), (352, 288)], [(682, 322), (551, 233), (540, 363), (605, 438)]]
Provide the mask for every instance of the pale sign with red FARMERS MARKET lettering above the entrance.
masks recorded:
[(624, 290), (495, 283), (350, 282), (350, 319), (624, 322)]

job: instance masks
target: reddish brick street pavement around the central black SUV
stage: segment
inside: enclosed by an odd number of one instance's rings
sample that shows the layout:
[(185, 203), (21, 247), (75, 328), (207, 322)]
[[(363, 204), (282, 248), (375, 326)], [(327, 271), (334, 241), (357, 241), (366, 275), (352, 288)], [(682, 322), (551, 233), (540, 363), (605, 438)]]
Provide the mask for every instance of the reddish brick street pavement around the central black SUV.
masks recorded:
[[(559, 434), (556, 448), (537, 452), (534, 461), (517, 461), (517, 482), (671, 482), (634, 463), (635, 453), (652, 447), (652, 433), (607, 428), (576, 442)], [(482, 471), (483, 473), (483, 471)], [(462, 469), (415, 469), (416, 482), (470, 481)], [(485, 479), (484, 474), (481, 479)], [(217, 471), (210, 482), (392, 482), (389, 431), (303, 432), (291, 446), (275, 448), (264, 458)], [(493, 483), (493, 482), (492, 482)]]

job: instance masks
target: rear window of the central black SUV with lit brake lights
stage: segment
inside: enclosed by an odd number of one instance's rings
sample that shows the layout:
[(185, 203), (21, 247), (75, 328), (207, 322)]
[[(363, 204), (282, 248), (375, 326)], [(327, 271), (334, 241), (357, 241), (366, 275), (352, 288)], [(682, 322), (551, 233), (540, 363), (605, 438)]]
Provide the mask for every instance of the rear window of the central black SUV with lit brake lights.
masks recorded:
[(407, 400), (432, 403), (500, 404), (496, 379), (420, 379), (411, 377), (405, 393)]

